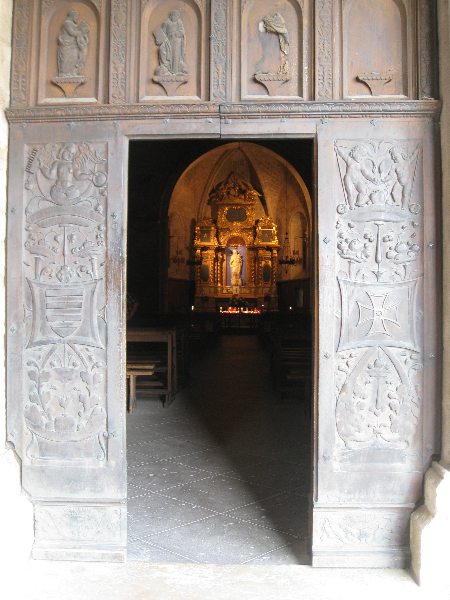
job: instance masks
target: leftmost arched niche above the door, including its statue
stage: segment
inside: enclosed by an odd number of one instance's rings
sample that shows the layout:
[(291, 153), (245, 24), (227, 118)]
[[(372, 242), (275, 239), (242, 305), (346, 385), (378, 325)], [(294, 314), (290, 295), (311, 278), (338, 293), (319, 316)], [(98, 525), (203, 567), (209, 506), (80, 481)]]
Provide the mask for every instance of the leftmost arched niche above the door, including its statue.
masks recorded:
[(102, 101), (101, 2), (42, 3), (38, 103)]

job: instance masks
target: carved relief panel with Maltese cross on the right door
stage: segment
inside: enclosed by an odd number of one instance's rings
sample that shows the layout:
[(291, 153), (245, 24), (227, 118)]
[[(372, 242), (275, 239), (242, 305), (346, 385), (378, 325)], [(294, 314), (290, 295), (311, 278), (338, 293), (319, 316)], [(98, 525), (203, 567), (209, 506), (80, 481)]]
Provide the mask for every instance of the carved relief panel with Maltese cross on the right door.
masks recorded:
[[(421, 412), (417, 142), (337, 142), (336, 429), (346, 447), (410, 450)], [(360, 349), (363, 349), (362, 351)]]

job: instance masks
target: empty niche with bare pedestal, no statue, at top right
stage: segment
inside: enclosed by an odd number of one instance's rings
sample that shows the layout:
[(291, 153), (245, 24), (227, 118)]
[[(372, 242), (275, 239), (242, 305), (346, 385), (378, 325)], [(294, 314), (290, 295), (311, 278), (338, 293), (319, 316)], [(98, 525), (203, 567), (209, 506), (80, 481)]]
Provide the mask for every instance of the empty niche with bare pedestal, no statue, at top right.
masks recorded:
[(408, 0), (350, 0), (344, 6), (344, 97), (407, 98)]

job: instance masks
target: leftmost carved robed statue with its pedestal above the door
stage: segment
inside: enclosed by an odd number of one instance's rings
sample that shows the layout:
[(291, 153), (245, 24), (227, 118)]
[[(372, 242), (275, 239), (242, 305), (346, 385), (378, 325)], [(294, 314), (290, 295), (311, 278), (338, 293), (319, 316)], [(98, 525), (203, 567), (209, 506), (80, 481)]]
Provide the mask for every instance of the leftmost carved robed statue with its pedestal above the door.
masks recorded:
[(58, 36), (58, 76), (52, 79), (68, 98), (86, 81), (81, 70), (86, 61), (90, 27), (86, 21), (78, 23), (78, 19), (76, 10), (67, 13)]

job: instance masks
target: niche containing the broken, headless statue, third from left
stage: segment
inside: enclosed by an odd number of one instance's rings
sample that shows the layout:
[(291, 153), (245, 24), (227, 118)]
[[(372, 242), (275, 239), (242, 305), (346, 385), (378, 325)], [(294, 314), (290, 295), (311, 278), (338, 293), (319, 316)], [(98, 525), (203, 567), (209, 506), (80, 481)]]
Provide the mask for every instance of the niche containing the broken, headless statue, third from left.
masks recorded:
[(306, 99), (308, 9), (296, 0), (242, 2), (242, 98)]

